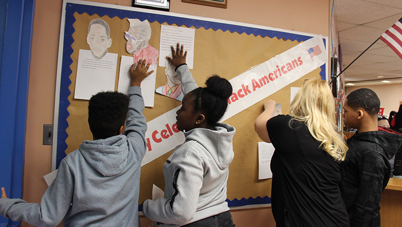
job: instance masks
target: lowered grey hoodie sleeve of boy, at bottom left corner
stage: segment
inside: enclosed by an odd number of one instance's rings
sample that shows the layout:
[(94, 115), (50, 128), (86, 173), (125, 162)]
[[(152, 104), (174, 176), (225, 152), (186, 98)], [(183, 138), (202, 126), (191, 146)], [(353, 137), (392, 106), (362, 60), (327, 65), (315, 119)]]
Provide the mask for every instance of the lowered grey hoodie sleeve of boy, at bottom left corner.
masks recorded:
[(46, 190), (41, 203), (22, 199), (0, 199), (0, 214), (14, 221), (24, 220), (35, 226), (56, 226), (66, 215), (73, 195), (74, 178), (63, 159), (56, 179)]

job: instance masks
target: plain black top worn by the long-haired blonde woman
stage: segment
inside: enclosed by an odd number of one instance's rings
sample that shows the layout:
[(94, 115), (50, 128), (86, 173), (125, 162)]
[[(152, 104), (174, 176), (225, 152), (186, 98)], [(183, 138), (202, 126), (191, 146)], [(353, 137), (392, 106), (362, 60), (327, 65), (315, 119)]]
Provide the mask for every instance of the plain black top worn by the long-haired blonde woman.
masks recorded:
[(279, 115), (267, 122), (275, 147), (271, 201), (276, 226), (349, 226), (339, 163), (320, 148), (304, 123), (291, 119)]

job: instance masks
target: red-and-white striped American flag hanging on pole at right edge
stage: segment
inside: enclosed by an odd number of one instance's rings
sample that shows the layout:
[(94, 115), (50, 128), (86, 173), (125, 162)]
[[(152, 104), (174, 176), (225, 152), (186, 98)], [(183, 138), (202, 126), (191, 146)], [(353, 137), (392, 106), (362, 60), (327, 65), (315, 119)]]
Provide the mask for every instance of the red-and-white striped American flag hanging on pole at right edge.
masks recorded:
[(386, 30), (380, 39), (402, 58), (402, 18)]

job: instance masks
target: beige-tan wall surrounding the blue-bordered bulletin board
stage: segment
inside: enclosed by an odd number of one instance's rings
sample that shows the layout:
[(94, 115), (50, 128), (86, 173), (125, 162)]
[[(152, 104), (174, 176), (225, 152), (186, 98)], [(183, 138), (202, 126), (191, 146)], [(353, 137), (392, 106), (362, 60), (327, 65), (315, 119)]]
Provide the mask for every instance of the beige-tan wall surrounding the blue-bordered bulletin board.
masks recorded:
[[(91, 2), (131, 6), (132, 0)], [(170, 1), (170, 12), (300, 32), (329, 33), (329, 1), (228, 0), (228, 8)], [(23, 198), (40, 202), (51, 171), (52, 147), (42, 145), (43, 124), (53, 124), (62, 0), (36, 0), (28, 93)], [(313, 13), (314, 12), (314, 13)], [(274, 226), (270, 207), (233, 211), (237, 226)], [(142, 218), (142, 226), (147, 220)], [(30, 226), (23, 223), (23, 226)]]

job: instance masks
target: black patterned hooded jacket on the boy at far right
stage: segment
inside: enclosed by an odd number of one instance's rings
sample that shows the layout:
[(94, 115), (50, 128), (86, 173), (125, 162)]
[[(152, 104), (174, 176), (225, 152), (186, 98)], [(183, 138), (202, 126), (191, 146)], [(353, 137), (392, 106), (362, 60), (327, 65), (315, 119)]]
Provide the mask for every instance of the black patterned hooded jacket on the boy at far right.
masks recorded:
[(350, 226), (379, 227), (381, 192), (388, 183), (402, 135), (384, 131), (356, 133), (348, 140), (348, 153), (341, 164), (342, 198)]

